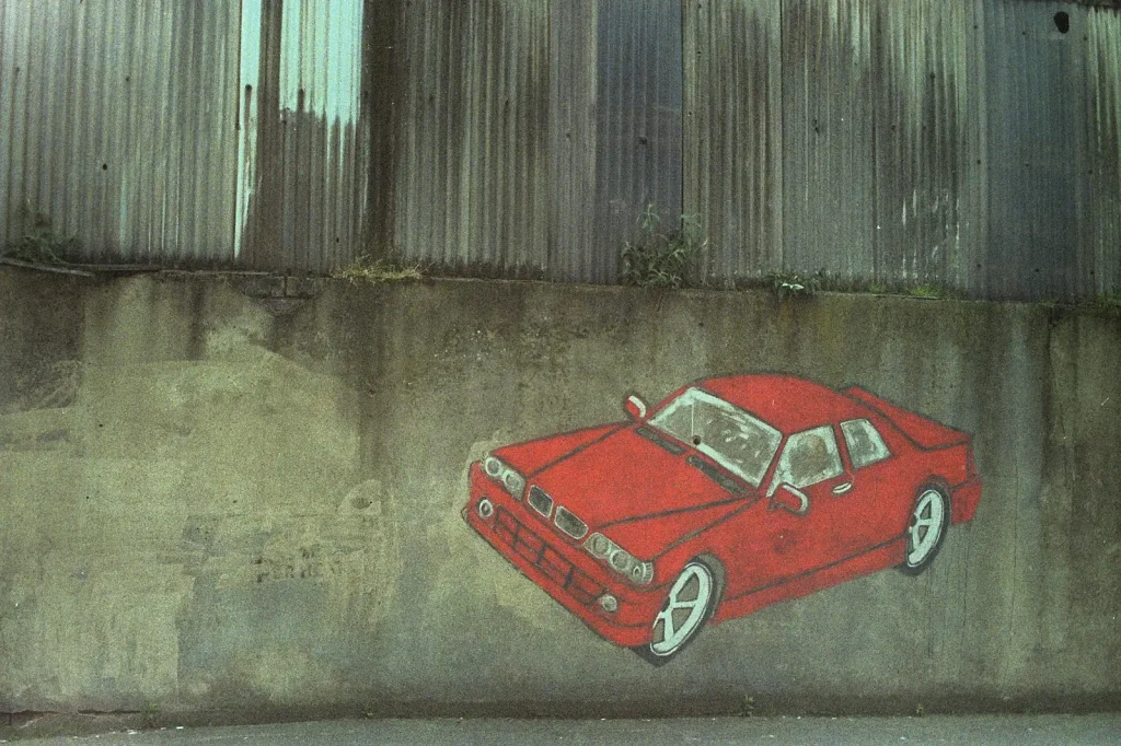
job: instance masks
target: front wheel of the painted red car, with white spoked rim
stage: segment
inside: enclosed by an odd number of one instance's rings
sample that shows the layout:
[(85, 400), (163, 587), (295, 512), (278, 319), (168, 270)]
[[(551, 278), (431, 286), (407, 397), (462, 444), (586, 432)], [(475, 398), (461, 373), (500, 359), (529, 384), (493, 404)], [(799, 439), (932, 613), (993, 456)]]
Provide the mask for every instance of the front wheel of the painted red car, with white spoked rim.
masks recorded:
[(652, 640), (631, 650), (655, 665), (671, 661), (712, 618), (723, 593), (723, 575), (715, 560), (689, 560), (669, 587), (666, 602), (651, 623)]

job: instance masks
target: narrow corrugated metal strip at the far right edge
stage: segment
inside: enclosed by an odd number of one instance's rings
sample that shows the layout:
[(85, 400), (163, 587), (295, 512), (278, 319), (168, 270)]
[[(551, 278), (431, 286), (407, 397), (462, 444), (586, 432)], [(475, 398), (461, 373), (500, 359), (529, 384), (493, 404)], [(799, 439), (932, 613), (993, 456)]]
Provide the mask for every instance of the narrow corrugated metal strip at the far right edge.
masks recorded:
[(1121, 13), (1091, 11), (1086, 36), (1090, 277), (1083, 272), (1083, 297), (1121, 293)]

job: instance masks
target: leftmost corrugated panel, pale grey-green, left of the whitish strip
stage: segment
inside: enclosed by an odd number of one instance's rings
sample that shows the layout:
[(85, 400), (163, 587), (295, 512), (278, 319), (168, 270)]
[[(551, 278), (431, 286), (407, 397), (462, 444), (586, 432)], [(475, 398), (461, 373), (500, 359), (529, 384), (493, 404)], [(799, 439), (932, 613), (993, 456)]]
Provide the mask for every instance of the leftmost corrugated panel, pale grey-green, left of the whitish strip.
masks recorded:
[(237, 3), (0, 3), (0, 237), (90, 260), (231, 257)]

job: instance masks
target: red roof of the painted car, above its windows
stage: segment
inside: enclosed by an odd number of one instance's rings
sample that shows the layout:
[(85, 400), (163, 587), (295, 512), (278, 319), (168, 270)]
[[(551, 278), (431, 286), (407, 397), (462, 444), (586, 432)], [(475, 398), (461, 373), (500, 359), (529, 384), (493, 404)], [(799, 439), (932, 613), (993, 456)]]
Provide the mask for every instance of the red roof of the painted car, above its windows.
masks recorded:
[(853, 399), (793, 375), (731, 375), (706, 379), (695, 385), (745, 409), (787, 435), (869, 414), (868, 409)]

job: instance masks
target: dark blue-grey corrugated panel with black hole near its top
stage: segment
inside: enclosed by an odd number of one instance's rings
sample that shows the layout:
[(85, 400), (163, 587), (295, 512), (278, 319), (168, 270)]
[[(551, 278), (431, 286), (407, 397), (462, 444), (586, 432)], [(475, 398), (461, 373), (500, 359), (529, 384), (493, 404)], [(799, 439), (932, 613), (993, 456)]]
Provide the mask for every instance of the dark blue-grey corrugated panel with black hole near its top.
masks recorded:
[[(1054, 22), (1059, 8), (1067, 34)], [(986, 2), (989, 298), (1078, 295), (1087, 16), (1073, 3)]]

